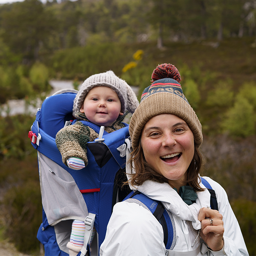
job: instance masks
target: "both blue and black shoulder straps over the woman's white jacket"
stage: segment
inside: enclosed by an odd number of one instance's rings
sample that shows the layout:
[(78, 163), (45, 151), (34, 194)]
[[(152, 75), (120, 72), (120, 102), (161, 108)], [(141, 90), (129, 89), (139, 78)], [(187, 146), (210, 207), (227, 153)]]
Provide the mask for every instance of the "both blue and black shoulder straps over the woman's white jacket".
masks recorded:
[[(209, 182), (202, 178), (202, 183), (204, 186), (208, 189), (208, 191), (211, 194), (210, 198), (210, 204), (211, 204), (211, 209), (218, 210), (218, 202), (216, 198), (216, 193), (212, 189), (212, 186), (209, 184)], [(163, 227), (163, 241), (166, 246), (166, 250), (172, 250), (173, 247), (175, 246), (175, 224), (174, 224), (174, 219), (172, 215), (169, 215), (166, 209), (164, 208), (162, 202), (160, 201), (154, 201), (153, 199), (147, 197), (143, 193), (136, 191), (136, 192), (131, 192), (125, 199), (124, 201), (130, 201), (130, 198), (135, 199), (135, 203), (137, 204), (143, 204), (145, 205), (151, 213), (156, 217), (157, 221), (161, 224)], [(137, 200), (137, 201), (136, 201)], [(139, 202), (138, 202), (139, 201)]]

